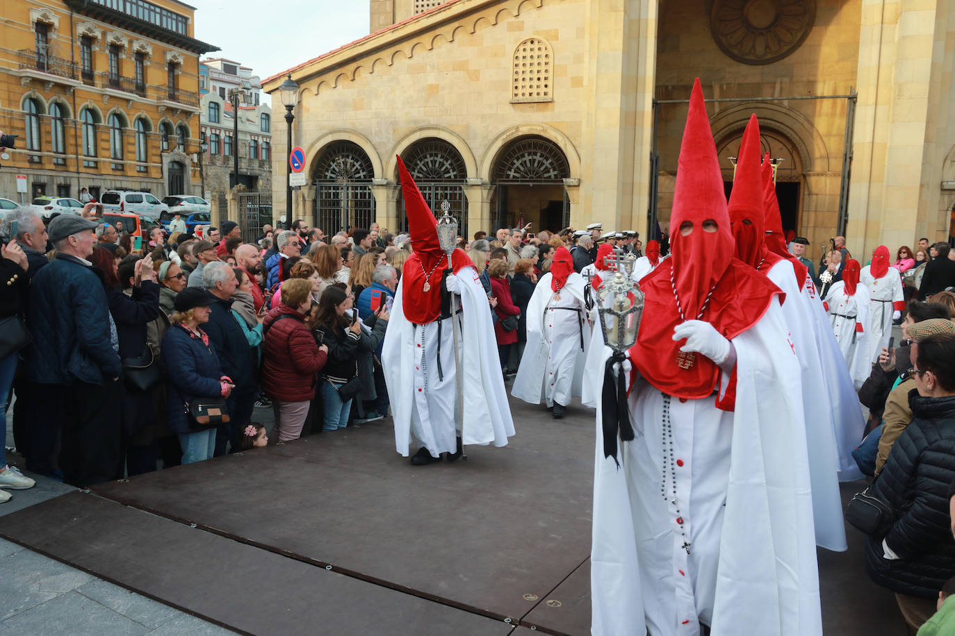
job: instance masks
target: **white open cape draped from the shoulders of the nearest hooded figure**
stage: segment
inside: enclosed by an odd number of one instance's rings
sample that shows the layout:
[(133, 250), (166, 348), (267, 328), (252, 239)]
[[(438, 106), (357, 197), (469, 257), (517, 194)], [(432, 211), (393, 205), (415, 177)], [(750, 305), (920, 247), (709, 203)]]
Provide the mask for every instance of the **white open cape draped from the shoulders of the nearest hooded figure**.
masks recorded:
[[(719, 536), (712, 636), (822, 633), (799, 367), (785, 334), (781, 309), (773, 303), (758, 323), (732, 340), (736, 401), (730, 414), (732, 450)], [(591, 360), (596, 366), (588, 367), (587, 374), (602, 378), (605, 357)], [(652, 388), (649, 392), (644, 398), (651, 397)], [(637, 394), (635, 388), (629, 401), (631, 414), (642, 399)], [(707, 400), (712, 403), (714, 398)], [(714, 405), (711, 409), (713, 418), (725, 417), (715, 414)], [(640, 421), (634, 424), (637, 429), (641, 426)], [(637, 536), (635, 528), (642, 522), (635, 517), (638, 511), (633, 502), (640, 493), (631, 489), (637, 489), (638, 483), (646, 485), (646, 480), (640, 479), (638, 463), (625, 458), (618, 468), (613, 459), (604, 457), (599, 401), (596, 431), (592, 633), (645, 636), (645, 605), (654, 603), (659, 590), (644, 588), (641, 582), (636, 546), (652, 538)], [(624, 445), (641, 442), (638, 437)], [(679, 552), (673, 551), (676, 556)], [(678, 576), (669, 570), (671, 558), (675, 557), (661, 554), (659, 564), (648, 564), (660, 567), (656, 587)], [(663, 633), (697, 633), (693, 621), (684, 626), (676, 618), (675, 609), (673, 617), (674, 624)]]

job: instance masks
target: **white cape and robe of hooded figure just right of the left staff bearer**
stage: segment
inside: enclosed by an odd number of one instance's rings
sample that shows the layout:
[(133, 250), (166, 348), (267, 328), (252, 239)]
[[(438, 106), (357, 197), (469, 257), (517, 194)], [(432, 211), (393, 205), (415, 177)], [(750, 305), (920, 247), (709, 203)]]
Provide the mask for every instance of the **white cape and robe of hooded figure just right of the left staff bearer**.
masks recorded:
[[(555, 370), (561, 365), (561, 361), (573, 359), (573, 378), (570, 385), (570, 394), (572, 396), (581, 395), (581, 385), (584, 381), (584, 365), (587, 356), (587, 347), (590, 344), (591, 327), (590, 318), (586, 310), (586, 300), (584, 299), (584, 290), (586, 282), (584, 277), (576, 272), (567, 277), (561, 292), (568, 294), (577, 300), (580, 305), (581, 313), (559, 310), (561, 314), (568, 314), (567, 317), (573, 318), (565, 320), (566, 323), (573, 323), (571, 332), (562, 334), (560, 339), (555, 340), (552, 345), (548, 345), (546, 335), (543, 329), (543, 320), (550, 306), (550, 300), (554, 292), (550, 288), (551, 274), (548, 272), (541, 277), (537, 286), (534, 288), (534, 294), (527, 303), (527, 344), (524, 346), (524, 354), (520, 358), (518, 375), (514, 379), (514, 387), (511, 389), (511, 395), (520, 398), (531, 404), (540, 404), (541, 400), (546, 400), (550, 406), (552, 400), (547, 395), (546, 381), (548, 378), (548, 368)], [(567, 300), (567, 298), (563, 298)], [(563, 303), (570, 306), (571, 303)], [(583, 319), (583, 324), (579, 319)], [(581, 339), (583, 332), (584, 349), (581, 349)], [(564, 398), (566, 399), (566, 397)], [(566, 406), (570, 400), (562, 402)]]

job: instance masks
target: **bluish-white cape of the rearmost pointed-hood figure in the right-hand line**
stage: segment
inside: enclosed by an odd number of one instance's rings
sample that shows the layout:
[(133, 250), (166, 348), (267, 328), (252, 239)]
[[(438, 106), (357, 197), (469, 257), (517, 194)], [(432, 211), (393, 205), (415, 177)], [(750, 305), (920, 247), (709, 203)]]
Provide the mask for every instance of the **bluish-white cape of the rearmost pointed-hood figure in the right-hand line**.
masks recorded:
[(814, 322), (819, 369), (822, 384), (828, 399), (826, 403), (832, 412), (833, 431), (836, 436), (837, 470), (839, 482), (854, 482), (862, 479), (859, 464), (852, 457), (852, 450), (859, 445), (865, 431), (865, 417), (862, 405), (856, 395), (856, 387), (849, 375), (849, 367), (842, 357), (833, 326), (822, 307), (816, 286), (806, 275), (806, 284), (802, 287), (803, 297), (807, 300), (810, 315)]

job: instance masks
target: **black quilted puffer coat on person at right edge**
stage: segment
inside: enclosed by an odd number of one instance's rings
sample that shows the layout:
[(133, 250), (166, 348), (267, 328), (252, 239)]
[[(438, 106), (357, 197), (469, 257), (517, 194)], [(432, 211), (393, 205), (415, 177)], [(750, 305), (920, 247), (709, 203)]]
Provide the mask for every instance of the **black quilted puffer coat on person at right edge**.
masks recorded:
[[(879, 585), (935, 599), (955, 575), (948, 486), (955, 479), (955, 396), (909, 393), (913, 419), (892, 446), (870, 493), (895, 511), (884, 536), (869, 537), (865, 568)], [(882, 539), (900, 559), (885, 559)]]

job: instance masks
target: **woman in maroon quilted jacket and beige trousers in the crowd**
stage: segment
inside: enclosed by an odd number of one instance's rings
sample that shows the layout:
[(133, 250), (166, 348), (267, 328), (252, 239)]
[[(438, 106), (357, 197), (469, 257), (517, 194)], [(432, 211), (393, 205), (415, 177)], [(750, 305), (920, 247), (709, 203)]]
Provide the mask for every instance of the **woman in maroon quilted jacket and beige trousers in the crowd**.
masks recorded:
[(319, 370), (325, 366), (329, 348), (319, 347), (308, 331), (305, 318), (311, 307), (311, 281), (289, 278), (282, 285), (282, 302), (263, 322), (265, 365), (262, 388), (272, 397), (275, 428), (272, 439), (298, 440), (315, 397)]

